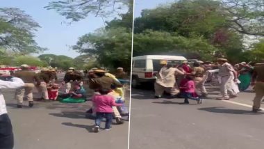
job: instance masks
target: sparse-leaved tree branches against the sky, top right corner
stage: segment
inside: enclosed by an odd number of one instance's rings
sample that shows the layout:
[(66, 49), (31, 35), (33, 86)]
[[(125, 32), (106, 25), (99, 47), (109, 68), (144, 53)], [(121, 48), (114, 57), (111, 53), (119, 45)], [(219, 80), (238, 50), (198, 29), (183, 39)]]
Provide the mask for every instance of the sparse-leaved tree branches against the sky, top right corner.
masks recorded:
[(230, 28), (238, 33), (264, 36), (264, 1), (221, 0), (220, 13), (231, 23)]

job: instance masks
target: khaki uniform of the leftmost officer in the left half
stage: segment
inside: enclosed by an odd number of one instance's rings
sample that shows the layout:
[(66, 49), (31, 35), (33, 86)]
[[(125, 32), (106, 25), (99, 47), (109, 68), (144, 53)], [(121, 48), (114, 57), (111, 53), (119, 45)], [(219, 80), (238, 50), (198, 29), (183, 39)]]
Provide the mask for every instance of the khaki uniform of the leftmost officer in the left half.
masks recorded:
[(24, 88), (18, 88), (15, 93), (17, 104), (19, 105), (23, 104), (23, 98), (25, 94), (28, 102), (33, 102), (33, 88), (35, 87), (35, 81), (40, 83), (35, 72), (32, 72), (30, 70), (21, 70), (15, 72), (14, 76), (19, 77), (25, 83)]

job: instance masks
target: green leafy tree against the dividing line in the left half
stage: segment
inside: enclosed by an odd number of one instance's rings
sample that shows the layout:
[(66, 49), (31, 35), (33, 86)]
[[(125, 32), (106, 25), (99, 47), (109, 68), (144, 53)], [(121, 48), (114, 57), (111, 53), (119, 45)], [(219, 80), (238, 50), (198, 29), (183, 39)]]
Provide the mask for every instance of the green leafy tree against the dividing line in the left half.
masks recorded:
[(96, 56), (97, 61), (106, 67), (131, 68), (130, 29), (98, 29), (79, 38), (72, 48), (80, 53)]

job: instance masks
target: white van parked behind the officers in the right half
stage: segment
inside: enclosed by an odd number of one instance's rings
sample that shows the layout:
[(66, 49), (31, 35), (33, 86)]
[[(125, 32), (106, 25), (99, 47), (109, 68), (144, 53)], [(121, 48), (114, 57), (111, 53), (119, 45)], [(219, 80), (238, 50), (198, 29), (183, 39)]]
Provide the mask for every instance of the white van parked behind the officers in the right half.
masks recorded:
[(133, 57), (131, 86), (136, 88), (143, 82), (154, 82), (156, 73), (160, 71), (161, 60), (179, 65), (187, 59), (183, 56), (145, 55)]

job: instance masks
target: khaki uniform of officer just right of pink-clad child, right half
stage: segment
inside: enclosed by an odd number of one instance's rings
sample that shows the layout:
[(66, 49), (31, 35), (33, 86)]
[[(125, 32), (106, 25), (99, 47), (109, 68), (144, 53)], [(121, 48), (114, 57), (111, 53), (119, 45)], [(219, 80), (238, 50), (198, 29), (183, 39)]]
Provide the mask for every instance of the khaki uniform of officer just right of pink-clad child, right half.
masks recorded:
[(206, 88), (204, 86), (207, 76), (204, 68), (195, 67), (192, 70), (192, 75), (195, 75), (195, 91), (198, 95), (207, 94)]

